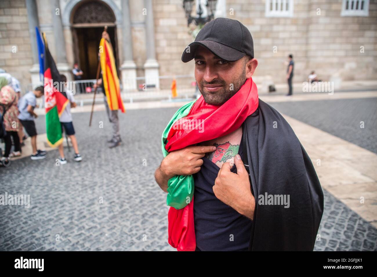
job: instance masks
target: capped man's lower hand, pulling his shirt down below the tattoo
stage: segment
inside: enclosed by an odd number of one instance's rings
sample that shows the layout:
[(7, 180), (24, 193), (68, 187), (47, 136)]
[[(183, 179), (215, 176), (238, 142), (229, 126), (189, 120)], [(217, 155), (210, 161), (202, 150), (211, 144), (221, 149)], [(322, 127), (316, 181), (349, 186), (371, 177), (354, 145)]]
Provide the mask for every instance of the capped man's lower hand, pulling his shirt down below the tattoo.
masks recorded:
[(251, 193), (249, 175), (238, 154), (234, 158), (234, 163), (237, 167), (237, 174), (230, 171), (233, 165), (225, 162), (219, 170), (212, 189), (219, 200), (252, 220), (255, 198)]

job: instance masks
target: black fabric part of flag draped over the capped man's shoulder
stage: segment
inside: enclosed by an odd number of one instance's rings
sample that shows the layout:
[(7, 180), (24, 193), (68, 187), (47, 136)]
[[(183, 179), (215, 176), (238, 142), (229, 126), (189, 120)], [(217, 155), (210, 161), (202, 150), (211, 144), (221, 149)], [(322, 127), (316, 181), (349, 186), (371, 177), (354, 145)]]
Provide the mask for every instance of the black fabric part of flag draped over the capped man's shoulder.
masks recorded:
[[(261, 99), (244, 134), (256, 200), (249, 251), (313, 251), (323, 191), (308, 154), (283, 116)], [(258, 204), (266, 193), (289, 195), (289, 208)]]

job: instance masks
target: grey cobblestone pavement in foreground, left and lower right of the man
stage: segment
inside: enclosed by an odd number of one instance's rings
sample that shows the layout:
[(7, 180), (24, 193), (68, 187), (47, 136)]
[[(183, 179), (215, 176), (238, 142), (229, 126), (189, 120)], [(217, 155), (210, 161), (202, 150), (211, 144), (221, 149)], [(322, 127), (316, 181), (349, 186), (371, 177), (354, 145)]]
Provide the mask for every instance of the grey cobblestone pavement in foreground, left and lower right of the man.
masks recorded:
[[(0, 194), (30, 194), (31, 206), (0, 206), (0, 250), (175, 250), (167, 243), (166, 194), (153, 173), (162, 159), (161, 133), (173, 109), (120, 115), (123, 144), (106, 147), (104, 112), (73, 114), (82, 162), (55, 165), (47, 158), (0, 168)], [(103, 128), (99, 128), (103, 121)], [(44, 132), (44, 117), (37, 119)], [(376, 250), (377, 230), (325, 193), (315, 250)], [(100, 203), (101, 199), (103, 203)]]

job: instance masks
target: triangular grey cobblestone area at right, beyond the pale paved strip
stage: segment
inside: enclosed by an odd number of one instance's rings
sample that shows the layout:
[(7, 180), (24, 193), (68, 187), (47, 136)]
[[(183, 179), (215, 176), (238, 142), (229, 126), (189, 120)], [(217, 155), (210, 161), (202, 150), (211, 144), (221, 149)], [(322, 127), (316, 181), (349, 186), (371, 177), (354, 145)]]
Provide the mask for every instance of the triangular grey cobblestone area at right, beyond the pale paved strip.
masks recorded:
[[(377, 98), (270, 104), (281, 113), (377, 153)], [(361, 121), (364, 128), (360, 128)]]

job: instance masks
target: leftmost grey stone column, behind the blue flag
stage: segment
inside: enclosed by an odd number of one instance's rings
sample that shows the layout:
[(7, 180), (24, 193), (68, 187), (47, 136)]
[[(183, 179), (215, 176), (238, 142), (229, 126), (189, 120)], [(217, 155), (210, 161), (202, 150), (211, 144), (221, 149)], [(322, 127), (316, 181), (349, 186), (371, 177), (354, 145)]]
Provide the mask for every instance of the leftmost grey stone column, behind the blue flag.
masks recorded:
[(33, 65), (29, 72), (31, 73), (32, 88), (34, 88), (43, 83), (43, 80), (40, 80), (39, 76), (38, 46), (37, 37), (35, 36), (35, 27), (39, 28), (37, 3), (35, 0), (26, 0), (26, 10), (28, 13), (29, 35), (33, 58)]

